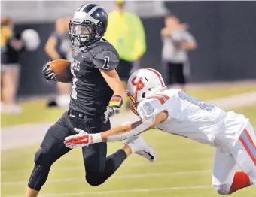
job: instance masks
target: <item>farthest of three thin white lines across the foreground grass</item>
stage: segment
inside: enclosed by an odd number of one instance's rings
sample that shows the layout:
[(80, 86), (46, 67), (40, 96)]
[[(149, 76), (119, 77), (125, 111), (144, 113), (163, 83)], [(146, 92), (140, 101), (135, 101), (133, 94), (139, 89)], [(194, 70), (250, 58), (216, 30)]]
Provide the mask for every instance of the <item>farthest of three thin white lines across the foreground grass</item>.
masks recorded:
[[(179, 159), (179, 160), (166, 160), (163, 162), (133, 162), (130, 164), (123, 164), (123, 166), (127, 165), (129, 168), (138, 168), (138, 167), (145, 167), (145, 166), (159, 166), (159, 165), (172, 165), (172, 164), (184, 164), (185, 162), (190, 163), (190, 164), (198, 164), (198, 163), (207, 163), (207, 162), (212, 162), (212, 157), (210, 159), (197, 159), (197, 160), (184, 160), (184, 159)], [(76, 167), (66, 167), (66, 168), (54, 168), (54, 171), (84, 171), (84, 165), (81, 166), (76, 166)], [(3, 170), (1, 171), (2, 174), (17, 174), (17, 173), (27, 173), (31, 172), (32, 168), (29, 169), (24, 169), (24, 170)]]

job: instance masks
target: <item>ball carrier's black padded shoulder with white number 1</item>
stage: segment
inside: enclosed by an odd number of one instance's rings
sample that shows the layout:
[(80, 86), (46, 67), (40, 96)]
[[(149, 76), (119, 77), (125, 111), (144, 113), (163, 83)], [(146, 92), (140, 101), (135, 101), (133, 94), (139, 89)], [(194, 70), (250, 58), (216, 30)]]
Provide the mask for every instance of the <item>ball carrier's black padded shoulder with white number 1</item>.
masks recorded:
[(118, 53), (108, 41), (99, 41), (90, 53), (93, 55), (93, 65), (96, 68), (112, 71), (119, 64)]

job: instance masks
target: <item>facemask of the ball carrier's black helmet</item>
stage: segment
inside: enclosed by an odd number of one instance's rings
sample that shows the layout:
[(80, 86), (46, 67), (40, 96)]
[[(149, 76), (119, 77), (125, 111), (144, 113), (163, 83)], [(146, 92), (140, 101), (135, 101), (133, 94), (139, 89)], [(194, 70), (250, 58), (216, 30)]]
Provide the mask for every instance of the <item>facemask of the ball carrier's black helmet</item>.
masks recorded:
[(96, 39), (96, 25), (90, 21), (71, 21), (69, 23), (69, 36), (75, 47), (84, 47)]

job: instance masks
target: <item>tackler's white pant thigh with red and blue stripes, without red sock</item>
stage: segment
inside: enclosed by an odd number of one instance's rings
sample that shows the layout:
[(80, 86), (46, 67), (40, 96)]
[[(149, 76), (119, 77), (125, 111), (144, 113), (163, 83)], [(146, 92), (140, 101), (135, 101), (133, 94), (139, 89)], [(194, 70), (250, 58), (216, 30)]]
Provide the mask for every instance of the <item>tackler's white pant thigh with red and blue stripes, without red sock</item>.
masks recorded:
[(248, 122), (245, 126), (232, 154), (237, 165), (256, 185), (256, 135), (251, 123)]

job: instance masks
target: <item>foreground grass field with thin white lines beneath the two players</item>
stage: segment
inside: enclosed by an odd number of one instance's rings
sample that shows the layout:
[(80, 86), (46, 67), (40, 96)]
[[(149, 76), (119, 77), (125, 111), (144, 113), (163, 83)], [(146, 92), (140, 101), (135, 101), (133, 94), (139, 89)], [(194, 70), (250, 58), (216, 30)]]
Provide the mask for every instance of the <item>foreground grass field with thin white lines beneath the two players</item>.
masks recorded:
[[(239, 108), (256, 126), (256, 106)], [(157, 162), (130, 156), (102, 186), (89, 186), (84, 179), (81, 149), (72, 150), (51, 168), (41, 196), (105, 197), (214, 197), (211, 186), (213, 148), (160, 131), (146, 132), (148, 144), (157, 152)], [(114, 153), (122, 143), (109, 143)], [(23, 196), (38, 146), (2, 152), (2, 196)], [(53, 195), (56, 194), (56, 195)], [(255, 187), (242, 189), (234, 197), (255, 197)]]

